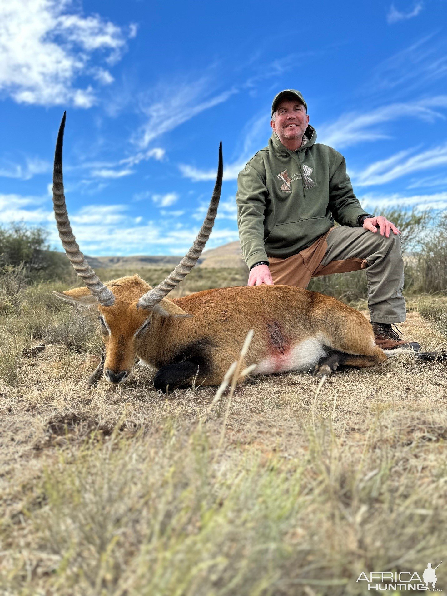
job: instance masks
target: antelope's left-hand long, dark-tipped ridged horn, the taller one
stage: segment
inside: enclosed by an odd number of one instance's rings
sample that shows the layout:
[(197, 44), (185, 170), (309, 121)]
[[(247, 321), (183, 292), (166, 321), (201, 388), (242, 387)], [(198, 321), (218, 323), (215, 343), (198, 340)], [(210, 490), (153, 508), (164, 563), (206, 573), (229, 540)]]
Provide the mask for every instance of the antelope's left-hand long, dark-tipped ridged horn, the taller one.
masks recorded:
[(79, 246), (76, 243), (76, 238), (73, 235), (72, 226), (70, 226), (67, 206), (65, 204), (62, 175), (62, 144), (64, 139), (66, 114), (67, 112), (64, 111), (64, 116), (62, 117), (62, 122), (57, 135), (56, 151), (54, 154), (53, 206), (57, 229), (59, 231), (59, 237), (62, 240), (62, 246), (64, 247), (67, 257), (69, 257), (70, 263), (72, 263), (75, 268), (77, 275), (79, 275), (83, 283), (85, 283), (100, 305), (111, 306), (115, 302), (113, 293), (103, 284), (86, 261), (82, 252), (80, 252)]

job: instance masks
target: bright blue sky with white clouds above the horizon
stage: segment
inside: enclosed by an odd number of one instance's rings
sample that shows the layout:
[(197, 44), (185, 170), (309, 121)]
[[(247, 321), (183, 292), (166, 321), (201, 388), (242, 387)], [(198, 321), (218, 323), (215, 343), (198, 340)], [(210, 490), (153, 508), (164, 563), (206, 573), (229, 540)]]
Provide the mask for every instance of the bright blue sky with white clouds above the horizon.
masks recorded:
[(224, 150), (207, 248), (237, 240), (237, 174), (300, 89), (361, 204), (447, 207), (447, 2), (0, 0), (0, 224), (50, 232), (55, 138), (83, 252), (181, 254)]

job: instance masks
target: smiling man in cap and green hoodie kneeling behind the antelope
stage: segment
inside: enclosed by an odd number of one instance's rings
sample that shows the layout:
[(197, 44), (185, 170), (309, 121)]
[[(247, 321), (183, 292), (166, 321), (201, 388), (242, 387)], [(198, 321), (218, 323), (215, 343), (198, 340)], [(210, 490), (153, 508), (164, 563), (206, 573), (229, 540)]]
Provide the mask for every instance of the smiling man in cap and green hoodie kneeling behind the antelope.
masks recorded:
[[(375, 342), (383, 349), (417, 343), (400, 339), (405, 321), (400, 232), (365, 212), (352, 190), (344, 157), (315, 143), (308, 106), (296, 89), (272, 103), (272, 136), (238, 176), (236, 203), (248, 285), (306, 288), (312, 277), (366, 269)], [(334, 227), (334, 219), (340, 226)]]

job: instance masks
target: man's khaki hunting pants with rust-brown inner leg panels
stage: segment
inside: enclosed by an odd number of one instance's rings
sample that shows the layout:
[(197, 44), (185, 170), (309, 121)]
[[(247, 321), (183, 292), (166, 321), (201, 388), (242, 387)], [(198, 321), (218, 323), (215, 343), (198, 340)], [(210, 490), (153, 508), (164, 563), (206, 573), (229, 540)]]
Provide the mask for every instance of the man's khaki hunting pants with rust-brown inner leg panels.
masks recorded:
[(308, 287), (312, 277), (365, 269), (371, 321), (405, 321), (400, 235), (390, 237), (364, 228), (337, 226), (307, 249), (287, 259), (269, 257), (274, 284)]

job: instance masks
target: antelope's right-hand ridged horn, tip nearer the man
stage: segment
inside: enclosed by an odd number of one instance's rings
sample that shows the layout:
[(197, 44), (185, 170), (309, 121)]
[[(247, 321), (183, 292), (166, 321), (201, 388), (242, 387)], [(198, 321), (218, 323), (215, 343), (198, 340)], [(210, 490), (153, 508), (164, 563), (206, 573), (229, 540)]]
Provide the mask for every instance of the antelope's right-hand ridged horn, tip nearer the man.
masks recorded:
[(221, 197), (221, 190), (222, 190), (222, 173), (224, 170), (224, 166), (222, 165), (222, 141), (219, 145), (219, 167), (218, 167), (218, 176), (216, 178), (216, 185), (214, 187), (213, 196), (211, 197), (210, 205), (208, 207), (208, 212), (206, 214), (206, 218), (203, 222), (203, 225), (200, 228), (200, 232), (197, 234), (197, 238), (195, 238), (193, 246), (191, 246), (188, 253), (183, 257), (179, 265), (173, 270), (173, 272), (167, 276), (167, 278), (162, 281), (161, 284), (157, 285), (152, 290), (149, 290), (144, 296), (138, 301), (139, 308), (145, 309), (152, 309), (156, 304), (160, 302), (169, 294), (173, 288), (176, 287), (193, 269), (195, 263), (197, 263), (198, 257), (203, 250), (203, 247), (206, 244), (206, 241), (210, 237), (211, 229), (214, 225), (214, 220), (216, 218), (216, 213), (218, 210), (219, 198)]

